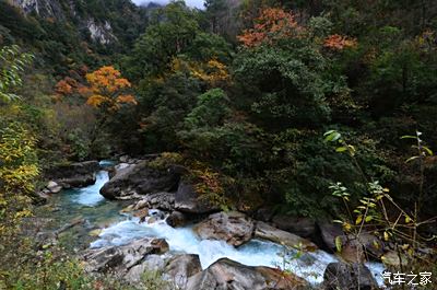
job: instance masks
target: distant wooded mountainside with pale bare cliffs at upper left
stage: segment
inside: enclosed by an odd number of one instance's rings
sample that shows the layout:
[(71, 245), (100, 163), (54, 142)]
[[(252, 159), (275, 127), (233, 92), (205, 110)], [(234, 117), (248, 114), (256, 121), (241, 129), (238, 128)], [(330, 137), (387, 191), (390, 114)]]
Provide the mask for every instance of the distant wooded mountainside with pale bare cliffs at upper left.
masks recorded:
[(144, 31), (146, 10), (130, 1), (1, 1), (2, 44), (23, 44), (42, 68), (104, 63)]

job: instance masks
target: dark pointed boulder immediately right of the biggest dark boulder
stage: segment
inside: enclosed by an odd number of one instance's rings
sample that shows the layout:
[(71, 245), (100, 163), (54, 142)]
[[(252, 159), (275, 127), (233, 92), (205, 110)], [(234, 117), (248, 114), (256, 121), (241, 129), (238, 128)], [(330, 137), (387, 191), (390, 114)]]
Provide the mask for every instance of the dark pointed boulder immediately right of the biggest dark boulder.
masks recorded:
[(199, 198), (193, 186), (186, 182), (180, 182), (175, 194), (175, 209), (187, 213), (210, 213), (217, 211), (218, 208), (205, 199)]

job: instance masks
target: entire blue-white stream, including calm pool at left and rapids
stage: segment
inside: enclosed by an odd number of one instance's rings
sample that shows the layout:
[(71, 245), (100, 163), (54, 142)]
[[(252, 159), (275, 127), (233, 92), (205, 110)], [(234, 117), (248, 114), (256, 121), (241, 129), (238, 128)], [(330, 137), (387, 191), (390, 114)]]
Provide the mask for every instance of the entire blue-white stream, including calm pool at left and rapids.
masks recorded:
[[(105, 162), (101, 165), (109, 164)], [(165, 220), (140, 223), (138, 218), (119, 213), (122, 202), (106, 200), (99, 194), (99, 189), (108, 179), (108, 173), (101, 171), (96, 174), (94, 185), (63, 190), (51, 198), (51, 207), (55, 207), (55, 210), (45, 212), (56, 220), (57, 227), (62, 222), (71, 221), (72, 218), (86, 220), (82, 232), (79, 230), (73, 237), (70, 237), (72, 246), (102, 247), (123, 245), (144, 236), (162, 237), (167, 241), (173, 252), (198, 254), (202, 268), (206, 268), (220, 258), (227, 257), (248, 266), (286, 268), (311, 283), (320, 283), (328, 264), (336, 260), (333, 255), (323, 251), (291, 253), (282, 245), (268, 241), (252, 240), (239, 247), (228, 245), (224, 241), (202, 241), (192, 231), (192, 225), (174, 229)], [(103, 230), (98, 231), (97, 237), (90, 236), (90, 231), (95, 229)], [(285, 259), (284, 256), (286, 256)], [(367, 266), (381, 283), (382, 266), (377, 263), (367, 264)]]

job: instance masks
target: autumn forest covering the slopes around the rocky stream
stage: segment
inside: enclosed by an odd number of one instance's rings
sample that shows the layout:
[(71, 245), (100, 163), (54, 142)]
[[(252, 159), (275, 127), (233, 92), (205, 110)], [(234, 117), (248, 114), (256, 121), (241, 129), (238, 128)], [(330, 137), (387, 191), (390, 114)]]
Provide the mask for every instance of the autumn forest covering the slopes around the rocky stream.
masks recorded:
[[(436, 116), (435, 0), (0, 0), (0, 289), (436, 289)], [(181, 287), (157, 271), (133, 285), (90, 274), (38, 224), (62, 194), (47, 183), (102, 160), (156, 178), (105, 185), (111, 202), (168, 192), (177, 204), (190, 184), (208, 205), (176, 207), (190, 222), (245, 214), (312, 241), (358, 279), (332, 286), (324, 272), (322, 286), (292, 287), (280, 267), (282, 286), (214, 288), (188, 275)], [(60, 185), (93, 182), (78, 184)], [(364, 260), (434, 277), (367, 285)]]

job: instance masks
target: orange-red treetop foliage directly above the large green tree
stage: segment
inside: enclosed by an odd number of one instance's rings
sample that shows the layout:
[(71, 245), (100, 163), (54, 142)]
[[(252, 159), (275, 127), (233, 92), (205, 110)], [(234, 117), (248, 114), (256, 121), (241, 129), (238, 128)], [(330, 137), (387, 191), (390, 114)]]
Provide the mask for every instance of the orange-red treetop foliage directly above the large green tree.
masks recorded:
[(246, 47), (258, 46), (262, 43), (272, 43), (274, 39), (296, 36), (303, 31), (292, 12), (279, 8), (261, 10), (253, 28), (245, 30), (238, 40)]

